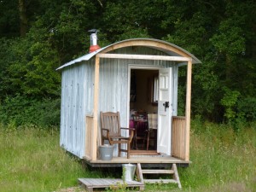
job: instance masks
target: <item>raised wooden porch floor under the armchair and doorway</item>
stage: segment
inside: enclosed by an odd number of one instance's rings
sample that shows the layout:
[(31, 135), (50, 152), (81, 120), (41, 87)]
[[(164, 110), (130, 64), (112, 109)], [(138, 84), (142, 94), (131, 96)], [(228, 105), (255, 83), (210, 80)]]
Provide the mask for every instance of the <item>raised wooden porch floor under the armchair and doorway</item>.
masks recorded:
[(172, 166), (173, 163), (177, 166), (189, 166), (190, 161), (180, 160), (175, 157), (156, 155), (155, 152), (152, 154), (131, 154), (131, 158), (127, 157), (113, 157), (112, 160), (90, 160), (84, 157), (87, 164), (92, 167), (120, 167), (122, 164), (127, 163), (141, 163), (142, 166)]

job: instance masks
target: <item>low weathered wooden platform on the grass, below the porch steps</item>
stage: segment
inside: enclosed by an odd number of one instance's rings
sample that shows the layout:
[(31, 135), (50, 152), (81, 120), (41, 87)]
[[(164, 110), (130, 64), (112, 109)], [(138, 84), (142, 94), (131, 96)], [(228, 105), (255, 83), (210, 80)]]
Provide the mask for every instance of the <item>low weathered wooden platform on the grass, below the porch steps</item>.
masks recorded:
[(84, 185), (89, 192), (93, 189), (119, 189), (138, 187), (140, 190), (144, 189), (144, 183), (137, 181), (124, 181), (120, 178), (79, 178), (79, 183)]

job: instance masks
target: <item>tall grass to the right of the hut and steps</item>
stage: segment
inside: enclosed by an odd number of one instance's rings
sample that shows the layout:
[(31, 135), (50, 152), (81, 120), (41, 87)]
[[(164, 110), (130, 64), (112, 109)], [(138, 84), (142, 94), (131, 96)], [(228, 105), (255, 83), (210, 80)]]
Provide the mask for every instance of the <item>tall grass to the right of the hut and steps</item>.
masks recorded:
[(187, 191), (256, 191), (256, 126), (192, 122), (189, 168), (180, 172)]

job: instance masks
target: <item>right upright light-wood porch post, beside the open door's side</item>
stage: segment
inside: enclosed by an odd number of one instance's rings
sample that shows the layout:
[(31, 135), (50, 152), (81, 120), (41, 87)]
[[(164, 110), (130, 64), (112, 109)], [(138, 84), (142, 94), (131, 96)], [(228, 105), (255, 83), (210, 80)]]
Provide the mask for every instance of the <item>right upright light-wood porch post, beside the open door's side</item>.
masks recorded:
[(188, 61), (188, 68), (187, 68), (187, 95), (186, 95), (185, 160), (189, 160), (191, 79), (192, 79), (192, 61)]

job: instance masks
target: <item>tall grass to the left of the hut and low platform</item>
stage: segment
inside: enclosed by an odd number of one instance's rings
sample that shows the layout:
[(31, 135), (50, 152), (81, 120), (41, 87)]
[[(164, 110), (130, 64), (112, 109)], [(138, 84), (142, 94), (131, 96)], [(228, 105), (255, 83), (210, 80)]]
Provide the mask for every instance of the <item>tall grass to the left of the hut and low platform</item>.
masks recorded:
[(0, 191), (54, 191), (95, 177), (59, 147), (55, 129), (0, 129)]

